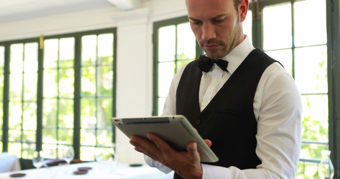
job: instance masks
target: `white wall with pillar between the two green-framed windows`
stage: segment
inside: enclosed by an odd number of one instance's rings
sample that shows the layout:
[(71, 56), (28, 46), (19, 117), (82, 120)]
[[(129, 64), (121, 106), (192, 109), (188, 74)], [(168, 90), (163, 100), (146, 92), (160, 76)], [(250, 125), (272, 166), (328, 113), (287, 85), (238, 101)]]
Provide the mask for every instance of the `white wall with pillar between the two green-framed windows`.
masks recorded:
[[(0, 42), (117, 27), (117, 117), (151, 116), (152, 24), (184, 15), (184, 0), (153, 0), (126, 12), (111, 7), (0, 23)], [(119, 161), (144, 163), (120, 131), (116, 142)]]

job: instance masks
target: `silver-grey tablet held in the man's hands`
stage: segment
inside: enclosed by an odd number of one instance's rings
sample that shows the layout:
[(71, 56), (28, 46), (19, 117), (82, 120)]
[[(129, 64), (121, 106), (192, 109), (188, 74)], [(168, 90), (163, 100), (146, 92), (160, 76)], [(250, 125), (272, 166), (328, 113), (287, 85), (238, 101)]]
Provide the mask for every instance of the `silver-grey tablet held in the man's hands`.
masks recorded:
[(111, 118), (111, 122), (129, 138), (136, 135), (149, 140), (147, 133), (156, 134), (176, 151), (187, 151), (187, 145), (196, 142), (201, 162), (218, 161), (214, 152), (184, 116)]

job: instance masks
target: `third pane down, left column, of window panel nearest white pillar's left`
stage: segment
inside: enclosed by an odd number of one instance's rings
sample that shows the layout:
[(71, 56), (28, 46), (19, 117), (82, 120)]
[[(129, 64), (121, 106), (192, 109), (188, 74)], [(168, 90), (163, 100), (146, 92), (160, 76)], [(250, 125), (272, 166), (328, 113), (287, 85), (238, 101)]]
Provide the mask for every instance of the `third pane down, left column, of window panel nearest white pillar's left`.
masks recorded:
[(81, 99), (81, 126), (82, 128), (96, 128), (96, 100)]

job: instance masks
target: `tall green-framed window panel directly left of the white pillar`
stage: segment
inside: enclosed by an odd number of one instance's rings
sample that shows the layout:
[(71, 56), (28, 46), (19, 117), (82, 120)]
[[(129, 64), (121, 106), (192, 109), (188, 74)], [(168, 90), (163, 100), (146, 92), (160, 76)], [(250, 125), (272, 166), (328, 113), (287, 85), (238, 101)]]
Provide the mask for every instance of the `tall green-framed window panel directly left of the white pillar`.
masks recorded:
[[(114, 34), (82, 36), (80, 159), (93, 160), (95, 148), (110, 156), (113, 116)], [(104, 152), (105, 151), (105, 152)]]

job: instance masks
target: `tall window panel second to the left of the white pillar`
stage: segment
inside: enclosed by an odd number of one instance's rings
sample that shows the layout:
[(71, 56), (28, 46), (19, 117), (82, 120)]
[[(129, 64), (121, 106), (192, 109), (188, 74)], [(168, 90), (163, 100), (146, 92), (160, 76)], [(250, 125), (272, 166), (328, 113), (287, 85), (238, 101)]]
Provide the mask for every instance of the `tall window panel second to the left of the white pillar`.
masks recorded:
[(42, 148), (49, 158), (73, 145), (74, 45), (74, 37), (44, 40)]

